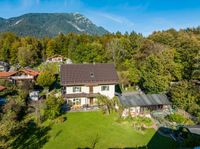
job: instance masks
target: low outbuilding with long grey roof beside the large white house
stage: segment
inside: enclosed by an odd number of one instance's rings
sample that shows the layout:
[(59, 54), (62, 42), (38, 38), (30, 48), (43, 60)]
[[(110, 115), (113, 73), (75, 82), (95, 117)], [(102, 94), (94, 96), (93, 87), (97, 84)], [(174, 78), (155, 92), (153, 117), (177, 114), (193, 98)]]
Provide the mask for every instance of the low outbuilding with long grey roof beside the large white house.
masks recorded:
[(164, 110), (171, 108), (171, 102), (165, 94), (134, 94), (124, 93), (119, 96), (125, 108), (123, 116), (145, 114), (146, 110)]

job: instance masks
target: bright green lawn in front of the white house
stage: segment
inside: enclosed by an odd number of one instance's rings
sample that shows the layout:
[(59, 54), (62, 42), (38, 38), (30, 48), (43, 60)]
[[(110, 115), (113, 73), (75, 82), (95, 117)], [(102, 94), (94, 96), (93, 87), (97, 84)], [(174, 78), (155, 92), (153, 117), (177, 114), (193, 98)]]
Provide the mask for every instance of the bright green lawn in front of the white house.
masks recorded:
[[(153, 129), (143, 134), (133, 130), (128, 124), (119, 124), (114, 115), (101, 112), (67, 113), (64, 123), (52, 126), (50, 139), (43, 146), (45, 149), (95, 149), (134, 148), (148, 145), (151, 148), (173, 148), (173, 142), (159, 136)], [(97, 141), (95, 141), (97, 140)], [(170, 141), (170, 142), (169, 142)]]

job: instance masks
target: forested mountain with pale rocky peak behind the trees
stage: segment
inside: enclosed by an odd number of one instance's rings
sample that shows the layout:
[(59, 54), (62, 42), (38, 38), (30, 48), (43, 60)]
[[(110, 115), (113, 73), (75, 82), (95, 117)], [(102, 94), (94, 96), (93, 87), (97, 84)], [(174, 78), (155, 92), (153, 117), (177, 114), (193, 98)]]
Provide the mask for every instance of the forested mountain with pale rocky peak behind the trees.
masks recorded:
[(53, 37), (69, 32), (93, 35), (108, 33), (103, 27), (96, 26), (79, 13), (29, 13), (9, 19), (0, 18), (0, 32), (35, 37)]

